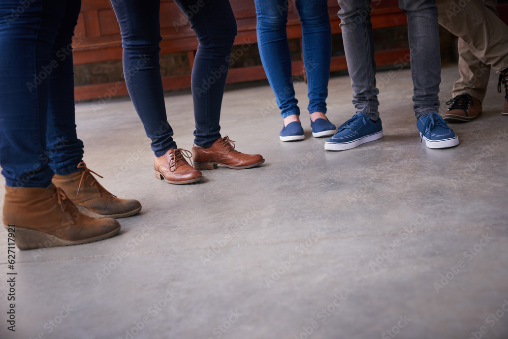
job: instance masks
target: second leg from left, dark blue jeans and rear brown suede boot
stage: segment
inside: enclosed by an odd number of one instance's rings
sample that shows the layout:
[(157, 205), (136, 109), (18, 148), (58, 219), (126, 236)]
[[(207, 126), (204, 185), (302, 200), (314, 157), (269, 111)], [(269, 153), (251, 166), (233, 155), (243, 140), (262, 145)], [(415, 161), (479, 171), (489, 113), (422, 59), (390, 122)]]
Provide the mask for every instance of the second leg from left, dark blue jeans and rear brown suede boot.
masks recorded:
[(49, 161), (55, 175), (53, 183), (84, 214), (93, 218), (123, 218), (136, 214), (141, 204), (134, 199), (119, 199), (104, 189), (86, 168), (83, 142), (76, 135), (74, 114), (74, 73), (72, 37), (81, 2), (70, 1), (51, 48), (51, 71), (48, 75), (47, 148), (44, 162)]

